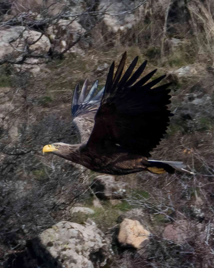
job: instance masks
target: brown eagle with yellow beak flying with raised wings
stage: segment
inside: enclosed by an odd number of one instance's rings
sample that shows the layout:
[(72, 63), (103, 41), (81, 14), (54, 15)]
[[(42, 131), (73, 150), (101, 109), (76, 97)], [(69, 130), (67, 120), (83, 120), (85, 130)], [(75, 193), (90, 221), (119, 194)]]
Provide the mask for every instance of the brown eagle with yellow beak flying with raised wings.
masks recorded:
[(43, 147), (43, 153), (51, 152), (95, 172), (112, 175), (141, 171), (172, 174), (175, 170), (192, 174), (185, 170), (182, 162), (149, 158), (166, 134), (169, 118), (173, 116), (167, 106), (171, 103), (171, 89), (168, 89), (171, 83), (156, 86), (166, 77), (162, 75), (152, 80), (157, 69), (141, 77), (147, 61), (133, 73), (138, 56), (123, 74), (126, 56), (125, 52), (115, 74), (113, 61), (105, 87), (100, 91), (97, 90), (98, 80), (88, 94), (89, 79), (85, 80), (81, 91), (79, 84), (76, 85), (71, 114), (80, 143), (48, 144)]

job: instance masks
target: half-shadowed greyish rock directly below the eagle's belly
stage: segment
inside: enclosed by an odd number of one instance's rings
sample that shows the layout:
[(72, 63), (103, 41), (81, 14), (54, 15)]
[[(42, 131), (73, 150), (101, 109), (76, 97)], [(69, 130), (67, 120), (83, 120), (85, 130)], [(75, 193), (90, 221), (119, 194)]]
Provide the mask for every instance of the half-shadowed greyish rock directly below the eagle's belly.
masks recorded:
[(114, 176), (101, 175), (97, 176), (91, 188), (96, 196), (100, 199), (120, 199), (126, 193), (125, 184), (120, 181), (115, 181)]

